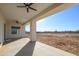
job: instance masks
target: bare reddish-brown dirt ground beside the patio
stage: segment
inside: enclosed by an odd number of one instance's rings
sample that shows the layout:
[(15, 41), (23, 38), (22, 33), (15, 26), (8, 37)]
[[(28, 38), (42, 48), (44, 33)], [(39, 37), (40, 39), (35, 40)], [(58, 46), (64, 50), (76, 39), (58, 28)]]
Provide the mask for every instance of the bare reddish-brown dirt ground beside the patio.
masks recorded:
[(79, 33), (77, 35), (75, 33), (67, 33), (67, 34), (60, 34), (54, 33), (53, 34), (45, 34), (37, 35), (38, 41), (48, 44), (50, 46), (68, 51), (70, 53), (79, 55)]

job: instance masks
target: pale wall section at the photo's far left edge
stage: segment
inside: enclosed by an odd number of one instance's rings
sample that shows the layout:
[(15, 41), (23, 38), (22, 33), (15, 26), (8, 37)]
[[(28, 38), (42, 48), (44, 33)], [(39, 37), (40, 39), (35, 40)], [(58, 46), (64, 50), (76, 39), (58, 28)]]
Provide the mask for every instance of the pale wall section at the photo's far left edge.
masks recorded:
[(0, 43), (4, 42), (4, 17), (0, 13)]

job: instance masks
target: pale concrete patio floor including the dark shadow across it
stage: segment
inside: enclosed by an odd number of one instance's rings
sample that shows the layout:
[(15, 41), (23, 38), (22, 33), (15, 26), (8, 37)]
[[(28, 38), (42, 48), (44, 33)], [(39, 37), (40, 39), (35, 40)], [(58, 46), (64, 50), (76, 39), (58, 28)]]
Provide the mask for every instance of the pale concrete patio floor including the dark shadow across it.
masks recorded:
[(0, 56), (76, 56), (41, 42), (18, 39), (0, 48)]

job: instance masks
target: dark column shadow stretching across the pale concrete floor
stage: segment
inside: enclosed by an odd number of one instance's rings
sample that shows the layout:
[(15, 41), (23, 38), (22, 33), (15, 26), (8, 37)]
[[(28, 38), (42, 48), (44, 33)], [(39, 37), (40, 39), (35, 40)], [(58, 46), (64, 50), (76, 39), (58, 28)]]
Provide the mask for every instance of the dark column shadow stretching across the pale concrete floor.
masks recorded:
[(15, 56), (32, 56), (36, 42), (28, 42)]

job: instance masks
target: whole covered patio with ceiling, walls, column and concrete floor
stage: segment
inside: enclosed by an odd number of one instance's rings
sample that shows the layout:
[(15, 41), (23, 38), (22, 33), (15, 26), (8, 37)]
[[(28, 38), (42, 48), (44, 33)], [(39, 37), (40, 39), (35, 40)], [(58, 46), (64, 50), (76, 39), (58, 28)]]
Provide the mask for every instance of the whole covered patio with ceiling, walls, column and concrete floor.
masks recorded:
[[(74, 54), (62, 51), (60, 49), (48, 46), (37, 41), (36, 22), (50, 15), (54, 15), (60, 11), (70, 8), (74, 3), (34, 3), (32, 7), (37, 11), (26, 11), (26, 8), (17, 8), (23, 4), (0, 4), (0, 55), (16, 55), (16, 56), (75, 56)], [(25, 33), (25, 25), (30, 23), (29, 38)], [(15, 29), (17, 30), (15, 30)], [(7, 44), (8, 39), (21, 38)], [(52, 52), (52, 53), (51, 53)]]

